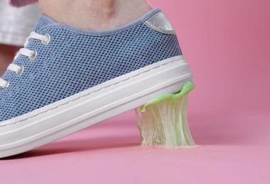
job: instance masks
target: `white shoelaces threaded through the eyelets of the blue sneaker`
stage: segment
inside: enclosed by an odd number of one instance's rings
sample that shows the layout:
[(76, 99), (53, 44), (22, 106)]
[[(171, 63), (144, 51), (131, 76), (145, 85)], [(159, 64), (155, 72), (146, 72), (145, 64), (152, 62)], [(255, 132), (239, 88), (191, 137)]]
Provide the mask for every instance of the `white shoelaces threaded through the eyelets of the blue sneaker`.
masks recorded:
[[(32, 32), (28, 38), (26, 39), (26, 42), (24, 42), (24, 47), (28, 45), (29, 40), (31, 39), (36, 39), (36, 40), (41, 40), (43, 45), (48, 45), (50, 42), (50, 36), (49, 35), (40, 35), (36, 32)], [(36, 50), (28, 50), (26, 48), (21, 48), (16, 56), (14, 57), (14, 60), (17, 59), (17, 57), (22, 54), (26, 57), (28, 57), (29, 60), (33, 60), (36, 58)], [(9, 64), (8, 70), (13, 71), (15, 74), (19, 75), (23, 72), (23, 66), (19, 66), (17, 64)], [(9, 81), (6, 81), (4, 79), (0, 78), (0, 88), (1, 89), (6, 89), (9, 86)]]

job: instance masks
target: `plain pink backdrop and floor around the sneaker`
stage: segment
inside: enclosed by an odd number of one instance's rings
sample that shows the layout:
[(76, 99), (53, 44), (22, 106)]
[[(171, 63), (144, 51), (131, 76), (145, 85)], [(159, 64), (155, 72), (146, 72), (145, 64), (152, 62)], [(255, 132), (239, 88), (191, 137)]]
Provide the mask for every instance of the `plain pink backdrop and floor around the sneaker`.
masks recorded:
[(149, 0), (195, 74), (197, 149), (139, 146), (134, 112), (0, 160), (1, 183), (269, 183), (270, 1)]

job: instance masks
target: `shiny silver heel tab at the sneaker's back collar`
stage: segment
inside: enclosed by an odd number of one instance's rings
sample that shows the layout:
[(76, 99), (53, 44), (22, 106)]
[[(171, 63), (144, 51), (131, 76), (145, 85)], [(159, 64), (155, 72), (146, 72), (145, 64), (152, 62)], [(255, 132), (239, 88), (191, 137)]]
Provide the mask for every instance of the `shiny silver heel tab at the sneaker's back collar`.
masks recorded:
[(144, 21), (144, 24), (160, 33), (175, 35), (173, 25), (161, 11)]

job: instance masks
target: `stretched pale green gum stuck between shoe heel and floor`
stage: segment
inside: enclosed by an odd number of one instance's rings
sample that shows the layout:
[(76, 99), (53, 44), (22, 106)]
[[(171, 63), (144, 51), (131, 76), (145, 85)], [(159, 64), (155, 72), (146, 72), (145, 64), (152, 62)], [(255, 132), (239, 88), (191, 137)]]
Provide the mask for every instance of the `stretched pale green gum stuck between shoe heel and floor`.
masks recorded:
[(142, 146), (196, 146), (188, 127), (188, 94), (195, 85), (187, 81), (177, 93), (163, 94), (136, 109)]

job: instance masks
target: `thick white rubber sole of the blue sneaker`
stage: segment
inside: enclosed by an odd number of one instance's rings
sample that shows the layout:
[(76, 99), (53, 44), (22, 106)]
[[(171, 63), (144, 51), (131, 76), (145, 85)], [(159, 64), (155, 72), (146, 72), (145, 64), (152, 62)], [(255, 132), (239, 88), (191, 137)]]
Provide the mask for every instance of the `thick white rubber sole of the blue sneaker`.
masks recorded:
[(173, 93), (193, 74), (183, 56), (119, 76), (31, 113), (0, 122), (0, 158), (48, 144)]

